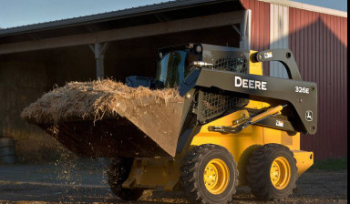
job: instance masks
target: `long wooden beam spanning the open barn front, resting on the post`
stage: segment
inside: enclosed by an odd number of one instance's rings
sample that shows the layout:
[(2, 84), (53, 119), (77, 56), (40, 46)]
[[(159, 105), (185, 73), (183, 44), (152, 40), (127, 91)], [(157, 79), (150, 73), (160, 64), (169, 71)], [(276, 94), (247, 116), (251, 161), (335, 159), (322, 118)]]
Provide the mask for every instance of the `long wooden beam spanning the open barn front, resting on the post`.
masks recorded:
[(158, 36), (218, 26), (232, 26), (234, 24), (242, 23), (243, 12), (244, 11), (237, 11), (218, 15), (205, 15), (201, 17), (144, 26), (126, 27), (97, 33), (3, 44), (0, 45), (0, 55), (66, 46), (89, 45), (143, 36)]

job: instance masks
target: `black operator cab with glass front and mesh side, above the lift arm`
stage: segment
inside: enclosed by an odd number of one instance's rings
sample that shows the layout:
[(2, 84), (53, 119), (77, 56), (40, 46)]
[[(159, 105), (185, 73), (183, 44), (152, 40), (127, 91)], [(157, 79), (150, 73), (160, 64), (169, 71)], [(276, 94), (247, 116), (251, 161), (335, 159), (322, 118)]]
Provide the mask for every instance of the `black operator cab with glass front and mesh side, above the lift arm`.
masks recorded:
[(207, 44), (164, 47), (158, 52), (157, 76), (129, 76), (127, 85), (150, 88), (179, 87), (193, 69), (202, 67), (248, 74), (249, 52), (234, 47)]

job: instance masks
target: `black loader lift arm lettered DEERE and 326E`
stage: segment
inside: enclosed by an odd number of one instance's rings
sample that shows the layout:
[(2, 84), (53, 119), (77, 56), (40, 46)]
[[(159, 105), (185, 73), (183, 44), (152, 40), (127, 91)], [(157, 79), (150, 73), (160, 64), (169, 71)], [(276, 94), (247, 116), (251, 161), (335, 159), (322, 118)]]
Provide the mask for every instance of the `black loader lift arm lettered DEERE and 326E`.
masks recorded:
[[(242, 73), (197, 67), (180, 84), (180, 95), (185, 96), (182, 130), (196, 91), (202, 88), (219, 88), (229, 93), (243, 94), (272, 106), (288, 105), (284, 108), (293, 129), (306, 134), (317, 131), (317, 85), (304, 82), (292, 52), (288, 49), (266, 50), (255, 54), (256, 61), (279, 61), (286, 68), (290, 79), (256, 76)], [(185, 109), (187, 108), (187, 109)], [(311, 116), (311, 117), (310, 117)], [(201, 120), (201, 119), (200, 119)], [(205, 121), (201, 121), (205, 123)]]

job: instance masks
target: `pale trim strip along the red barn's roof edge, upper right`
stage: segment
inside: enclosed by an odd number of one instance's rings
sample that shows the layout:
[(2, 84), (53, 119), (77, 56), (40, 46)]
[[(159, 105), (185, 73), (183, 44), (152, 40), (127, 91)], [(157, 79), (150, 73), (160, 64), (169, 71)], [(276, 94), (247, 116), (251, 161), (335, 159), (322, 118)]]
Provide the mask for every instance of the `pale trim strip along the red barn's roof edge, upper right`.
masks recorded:
[(299, 8), (307, 11), (314, 11), (326, 15), (336, 15), (347, 18), (347, 12), (335, 10), (332, 8), (326, 8), (318, 5), (307, 5), (299, 2), (293, 2), (289, 0), (258, 0), (261, 2), (266, 2), (274, 5), (285, 5), (293, 8)]

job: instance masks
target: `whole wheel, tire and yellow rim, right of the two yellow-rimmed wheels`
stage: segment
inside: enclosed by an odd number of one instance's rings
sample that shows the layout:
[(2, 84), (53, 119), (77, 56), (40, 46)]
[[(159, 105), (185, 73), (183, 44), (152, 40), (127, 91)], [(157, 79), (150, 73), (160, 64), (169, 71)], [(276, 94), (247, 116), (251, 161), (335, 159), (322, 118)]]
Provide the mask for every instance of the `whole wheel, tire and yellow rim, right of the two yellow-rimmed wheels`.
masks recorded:
[(283, 145), (257, 148), (249, 158), (247, 171), (249, 187), (258, 199), (284, 199), (296, 187), (296, 160), (293, 152)]

